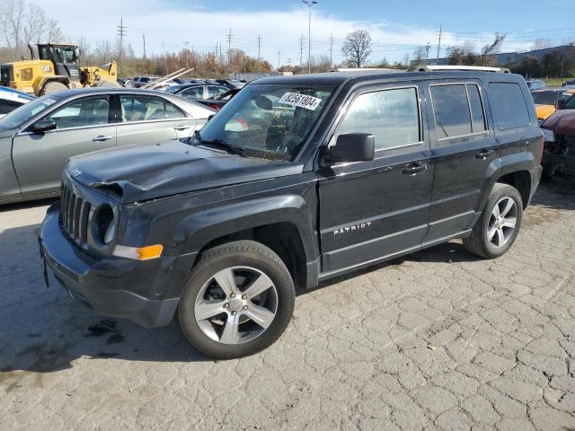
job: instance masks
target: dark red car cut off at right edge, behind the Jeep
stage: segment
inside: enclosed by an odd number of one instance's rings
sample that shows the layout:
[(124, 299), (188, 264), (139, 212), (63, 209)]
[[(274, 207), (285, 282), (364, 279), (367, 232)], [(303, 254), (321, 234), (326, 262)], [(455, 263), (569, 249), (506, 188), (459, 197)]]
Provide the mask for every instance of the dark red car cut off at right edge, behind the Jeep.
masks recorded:
[(544, 180), (557, 172), (575, 175), (575, 94), (559, 102), (558, 107), (541, 125), (545, 139)]

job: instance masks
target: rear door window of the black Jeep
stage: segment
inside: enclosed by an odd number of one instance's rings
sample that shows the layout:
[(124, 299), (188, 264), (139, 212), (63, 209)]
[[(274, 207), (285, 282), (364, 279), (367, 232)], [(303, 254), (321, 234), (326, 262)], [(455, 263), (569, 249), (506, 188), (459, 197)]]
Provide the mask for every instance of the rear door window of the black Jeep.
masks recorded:
[(476, 84), (432, 85), (438, 139), (485, 131), (482, 96)]

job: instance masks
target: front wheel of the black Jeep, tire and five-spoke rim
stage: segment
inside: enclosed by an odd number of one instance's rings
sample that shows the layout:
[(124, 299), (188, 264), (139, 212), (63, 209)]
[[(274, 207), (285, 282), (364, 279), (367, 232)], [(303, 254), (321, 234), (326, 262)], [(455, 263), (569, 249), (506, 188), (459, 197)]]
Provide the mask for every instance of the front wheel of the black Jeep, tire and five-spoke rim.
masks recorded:
[(295, 298), (288, 268), (274, 251), (260, 242), (228, 242), (204, 251), (192, 269), (178, 306), (181, 330), (204, 355), (249, 356), (279, 339)]

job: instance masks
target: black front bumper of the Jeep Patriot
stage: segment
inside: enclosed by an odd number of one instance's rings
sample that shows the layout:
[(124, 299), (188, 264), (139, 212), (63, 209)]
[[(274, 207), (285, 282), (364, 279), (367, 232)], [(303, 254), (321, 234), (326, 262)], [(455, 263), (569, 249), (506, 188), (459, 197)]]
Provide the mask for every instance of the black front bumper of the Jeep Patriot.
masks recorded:
[(41, 225), (40, 256), (70, 296), (102, 315), (146, 327), (172, 321), (195, 256), (93, 259), (62, 233), (59, 212), (57, 202)]

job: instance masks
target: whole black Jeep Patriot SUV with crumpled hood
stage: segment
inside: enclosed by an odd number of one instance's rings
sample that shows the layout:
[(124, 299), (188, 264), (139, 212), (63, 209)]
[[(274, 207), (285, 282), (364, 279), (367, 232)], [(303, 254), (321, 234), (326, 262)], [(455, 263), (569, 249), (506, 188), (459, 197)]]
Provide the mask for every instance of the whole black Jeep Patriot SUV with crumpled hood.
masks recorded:
[(204, 354), (246, 356), (286, 329), (296, 288), (454, 238), (501, 256), (542, 151), (518, 75), (261, 79), (193, 137), (70, 159), (40, 252), (96, 312), (177, 316)]

